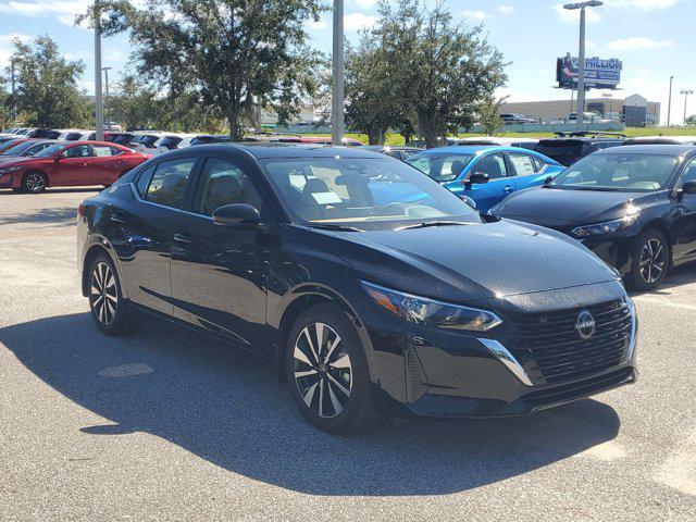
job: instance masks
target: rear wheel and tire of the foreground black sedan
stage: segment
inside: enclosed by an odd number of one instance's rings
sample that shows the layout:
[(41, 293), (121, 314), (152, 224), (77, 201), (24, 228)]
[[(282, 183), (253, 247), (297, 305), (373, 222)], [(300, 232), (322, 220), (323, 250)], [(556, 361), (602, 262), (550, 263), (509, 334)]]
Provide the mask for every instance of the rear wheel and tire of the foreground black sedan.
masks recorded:
[(121, 291), (121, 281), (107, 254), (99, 254), (89, 265), (88, 291), (91, 319), (107, 335), (124, 335), (136, 326), (128, 301)]

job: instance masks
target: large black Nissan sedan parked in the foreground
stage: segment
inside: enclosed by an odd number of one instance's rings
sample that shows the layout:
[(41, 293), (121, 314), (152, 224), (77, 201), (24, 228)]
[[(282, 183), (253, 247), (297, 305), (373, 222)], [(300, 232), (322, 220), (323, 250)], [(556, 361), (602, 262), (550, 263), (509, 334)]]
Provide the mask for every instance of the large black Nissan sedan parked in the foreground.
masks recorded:
[(84, 201), (77, 244), (103, 333), (154, 315), (261, 356), (332, 433), (385, 411), (525, 414), (635, 380), (616, 271), (376, 152), (173, 151)]

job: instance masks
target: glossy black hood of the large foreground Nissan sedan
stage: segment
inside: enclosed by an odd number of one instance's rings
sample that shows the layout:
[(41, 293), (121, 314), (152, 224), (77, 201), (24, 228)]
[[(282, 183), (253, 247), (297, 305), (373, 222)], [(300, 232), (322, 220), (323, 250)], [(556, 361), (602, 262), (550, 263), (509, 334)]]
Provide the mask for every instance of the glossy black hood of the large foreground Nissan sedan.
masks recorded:
[(458, 302), (592, 285), (617, 277), (568, 236), (494, 222), (364, 233), (314, 231), (359, 276)]

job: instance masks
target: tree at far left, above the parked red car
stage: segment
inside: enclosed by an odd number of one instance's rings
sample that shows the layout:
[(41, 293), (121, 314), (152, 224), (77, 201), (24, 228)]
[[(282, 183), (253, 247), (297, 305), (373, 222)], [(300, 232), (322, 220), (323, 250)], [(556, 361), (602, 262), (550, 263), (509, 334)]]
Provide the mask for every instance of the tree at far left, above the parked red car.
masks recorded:
[(85, 72), (82, 61), (63, 57), (48, 36), (32, 44), (13, 40), (16, 69), (14, 107), (27, 114), (26, 124), (35, 127), (84, 127), (91, 109), (77, 80)]

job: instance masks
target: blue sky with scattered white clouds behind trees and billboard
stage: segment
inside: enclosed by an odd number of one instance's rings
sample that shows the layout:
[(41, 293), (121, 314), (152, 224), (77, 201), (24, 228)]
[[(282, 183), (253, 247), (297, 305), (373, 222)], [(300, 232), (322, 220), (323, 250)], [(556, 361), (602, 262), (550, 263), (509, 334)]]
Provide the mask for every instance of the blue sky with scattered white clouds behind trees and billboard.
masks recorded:
[[(142, 0), (140, 0), (142, 1)], [(435, 0), (426, 0), (430, 4)], [(374, 23), (376, 0), (345, 0), (346, 32), (351, 39), (358, 30)], [(73, 25), (74, 15), (83, 12), (89, 0), (0, 0), (0, 66), (7, 65), (10, 41), (41, 34), (54, 38), (70, 58), (82, 59), (87, 72), (82, 85), (94, 89), (92, 33)], [(501, 90), (513, 101), (564, 99), (567, 91), (554, 89), (556, 58), (577, 51), (576, 14), (563, 11), (555, 0), (445, 0), (456, 20), (483, 23), (489, 40), (512, 62), (510, 80)], [(623, 61), (622, 91), (614, 97), (641, 94), (662, 102), (667, 119), (670, 75), (674, 75), (672, 121), (681, 121), (685, 88), (696, 90), (695, 0), (605, 0), (588, 16), (588, 54), (619, 58)], [(331, 49), (331, 15), (312, 24), (311, 41)], [(103, 41), (103, 64), (114, 67), (117, 78), (127, 62), (126, 37)], [(114, 74), (115, 73), (115, 74)], [(601, 91), (593, 91), (599, 96)], [(696, 113), (696, 96), (689, 103)]]

